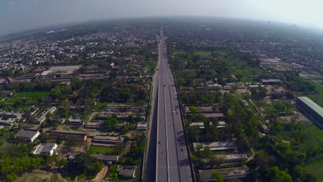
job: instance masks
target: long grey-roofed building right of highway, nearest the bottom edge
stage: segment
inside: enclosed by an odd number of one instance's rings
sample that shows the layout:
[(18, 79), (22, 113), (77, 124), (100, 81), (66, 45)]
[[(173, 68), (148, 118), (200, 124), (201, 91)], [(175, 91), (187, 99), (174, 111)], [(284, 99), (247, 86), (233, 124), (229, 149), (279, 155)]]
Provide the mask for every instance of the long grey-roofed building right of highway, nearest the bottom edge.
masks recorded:
[(248, 167), (220, 168), (214, 170), (199, 170), (199, 181), (215, 181), (213, 172), (219, 172), (224, 180), (241, 179), (250, 174)]

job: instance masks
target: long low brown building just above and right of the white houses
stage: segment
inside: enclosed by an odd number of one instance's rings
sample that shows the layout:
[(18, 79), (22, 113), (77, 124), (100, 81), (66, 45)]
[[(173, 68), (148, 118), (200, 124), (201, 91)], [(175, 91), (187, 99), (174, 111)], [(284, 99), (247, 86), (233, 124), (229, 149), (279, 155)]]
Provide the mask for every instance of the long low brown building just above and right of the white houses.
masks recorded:
[(88, 136), (85, 132), (75, 132), (66, 130), (48, 130), (46, 133), (49, 134), (51, 139), (62, 139), (62, 140), (76, 140), (86, 141)]

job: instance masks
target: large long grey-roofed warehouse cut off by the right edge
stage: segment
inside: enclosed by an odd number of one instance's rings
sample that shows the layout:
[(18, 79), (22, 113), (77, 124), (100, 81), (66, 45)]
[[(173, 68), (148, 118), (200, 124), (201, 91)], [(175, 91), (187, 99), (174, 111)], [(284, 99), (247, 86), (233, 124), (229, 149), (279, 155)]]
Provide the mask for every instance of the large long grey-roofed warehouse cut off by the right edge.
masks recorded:
[(323, 128), (323, 108), (320, 105), (317, 105), (308, 97), (297, 97), (296, 105), (306, 117), (317, 123), (320, 128)]

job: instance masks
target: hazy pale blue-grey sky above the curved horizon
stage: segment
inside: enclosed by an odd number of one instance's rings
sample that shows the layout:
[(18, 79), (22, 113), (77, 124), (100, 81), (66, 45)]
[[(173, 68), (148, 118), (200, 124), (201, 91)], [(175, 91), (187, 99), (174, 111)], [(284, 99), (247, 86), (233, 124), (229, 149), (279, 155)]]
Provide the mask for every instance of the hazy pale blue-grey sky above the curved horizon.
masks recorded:
[(118, 17), (198, 15), (323, 28), (322, 0), (0, 0), (0, 34)]

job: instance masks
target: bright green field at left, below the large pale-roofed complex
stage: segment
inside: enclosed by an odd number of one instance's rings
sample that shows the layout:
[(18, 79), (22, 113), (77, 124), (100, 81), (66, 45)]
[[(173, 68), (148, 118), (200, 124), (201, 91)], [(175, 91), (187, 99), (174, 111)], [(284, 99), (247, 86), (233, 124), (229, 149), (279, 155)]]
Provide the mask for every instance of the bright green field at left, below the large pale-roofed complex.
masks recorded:
[(37, 103), (38, 100), (42, 101), (49, 94), (50, 92), (20, 92), (15, 94), (8, 103), (23, 102), (23, 100), (25, 103)]

